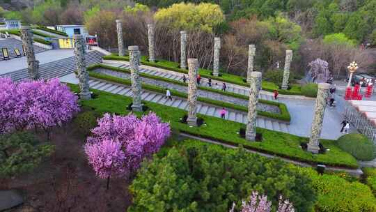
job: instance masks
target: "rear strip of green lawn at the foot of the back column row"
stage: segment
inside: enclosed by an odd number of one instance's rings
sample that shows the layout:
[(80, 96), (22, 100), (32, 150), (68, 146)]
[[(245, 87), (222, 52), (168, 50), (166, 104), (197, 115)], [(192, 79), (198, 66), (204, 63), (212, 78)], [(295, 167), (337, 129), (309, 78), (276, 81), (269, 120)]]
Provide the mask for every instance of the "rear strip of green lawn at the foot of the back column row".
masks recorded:
[[(118, 61), (129, 61), (129, 56), (117, 56), (117, 55), (109, 55), (109, 56), (104, 56), (103, 59), (108, 59), (108, 60), (118, 60)], [(165, 61), (165, 60), (158, 60), (155, 63), (152, 63), (148, 61), (146, 56), (141, 57), (141, 64), (146, 65), (146, 66), (153, 66), (157, 68), (164, 68), (167, 70), (173, 70), (179, 73), (188, 73), (188, 70), (184, 70), (179, 68), (179, 63), (175, 63), (172, 61)], [(240, 77), (237, 75), (230, 75), (228, 73), (221, 73), (221, 77), (214, 77), (210, 73), (212, 73), (212, 70), (207, 70), (203, 68), (198, 68), (198, 73), (202, 77), (212, 77), (212, 79), (217, 79), (223, 82), (229, 82), (233, 84), (238, 84), (241, 86), (249, 86), (248, 83), (244, 82), (244, 77)], [(265, 91), (274, 91), (277, 90), (279, 91), (280, 94), (288, 94), (288, 95), (301, 95), (301, 86), (299, 84), (292, 84), (290, 90), (282, 90), (279, 89), (278, 85), (274, 84), (273, 82), (262, 82), (262, 87), (263, 90)]]

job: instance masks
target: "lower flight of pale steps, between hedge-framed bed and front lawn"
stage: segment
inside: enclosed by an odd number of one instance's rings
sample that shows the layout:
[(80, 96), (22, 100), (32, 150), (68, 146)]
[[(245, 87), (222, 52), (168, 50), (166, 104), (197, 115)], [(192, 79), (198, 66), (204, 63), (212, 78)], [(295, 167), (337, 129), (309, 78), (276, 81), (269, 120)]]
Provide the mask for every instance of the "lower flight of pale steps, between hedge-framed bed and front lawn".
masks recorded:
[[(89, 81), (90, 87), (92, 89), (97, 89), (100, 91), (107, 91), (109, 93), (116, 93), (123, 96), (130, 96), (132, 97), (132, 90), (130, 86), (115, 84), (112, 82), (106, 82), (100, 79), (93, 79)], [(154, 93), (152, 91), (143, 91), (141, 93), (141, 99), (145, 101), (150, 101), (152, 103), (158, 103), (161, 105), (166, 105), (169, 107), (177, 107), (180, 109), (187, 110), (187, 100), (184, 98), (176, 98), (173, 97), (173, 100), (166, 99), (162, 93)], [(197, 112), (199, 114), (207, 115), (207, 116), (214, 116), (214, 117), (221, 117), (220, 111), (221, 107), (208, 105), (205, 103), (198, 102), (197, 104)], [(240, 112), (234, 109), (228, 109), (228, 113), (226, 114), (226, 119), (230, 121), (236, 121), (239, 123), (247, 123), (247, 114), (246, 112)], [(271, 119), (265, 119), (263, 117), (258, 116), (257, 118), (257, 126), (260, 128), (265, 128), (268, 130), (275, 130), (279, 132), (286, 132), (286, 133), (293, 133), (290, 130), (290, 126), (286, 123), (281, 123), (279, 121), (274, 121)]]

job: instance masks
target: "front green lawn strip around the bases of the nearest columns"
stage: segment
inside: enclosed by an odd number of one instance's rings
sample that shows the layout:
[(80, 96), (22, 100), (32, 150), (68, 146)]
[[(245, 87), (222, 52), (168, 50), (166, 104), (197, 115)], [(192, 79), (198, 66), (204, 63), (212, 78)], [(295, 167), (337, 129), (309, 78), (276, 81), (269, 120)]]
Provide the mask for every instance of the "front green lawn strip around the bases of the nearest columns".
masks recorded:
[[(78, 90), (76, 85), (71, 85), (71, 87), (75, 91)], [(101, 113), (127, 114), (129, 112), (126, 110), (126, 107), (132, 103), (132, 98), (103, 91), (93, 91), (98, 94), (97, 98), (81, 101), (83, 106), (91, 107)], [(310, 162), (312, 164), (322, 163), (338, 167), (358, 167), (357, 160), (350, 154), (341, 151), (338, 146), (336, 146), (335, 142), (331, 140), (322, 140), (324, 147), (330, 149), (330, 151), (325, 154), (313, 155), (312, 153), (302, 151), (299, 147), (300, 142), (308, 142), (308, 138), (306, 137), (298, 137), (283, 132), (258, 128), (257, 131), (263, 134), (263, 142), (249, 142), (237, 135), (240, 128), (245, 127), (242, 123), (198, 114), (198, 117), (205, 120), (206, 126), (190, 128), (187, 124), (180, 123), (180, 118), (187, 113), (184, 110), (149, 102), (146, 103), (146, 105), (148, 105), (152, 111), (156, 112), (164, 121), (170, 122), (174, 130), (179, 130), (180, 132), (214, 139), (226, 144), (242, 144), (246, 149), (272, 153), (277, 156)]]

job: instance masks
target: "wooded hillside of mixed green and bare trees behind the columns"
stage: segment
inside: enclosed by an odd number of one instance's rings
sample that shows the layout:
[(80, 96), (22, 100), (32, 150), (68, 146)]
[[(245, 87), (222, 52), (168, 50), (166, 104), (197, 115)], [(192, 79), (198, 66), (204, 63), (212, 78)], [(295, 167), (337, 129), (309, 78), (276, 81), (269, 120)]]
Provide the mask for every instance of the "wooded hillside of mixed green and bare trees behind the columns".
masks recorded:
[[(248, 45), (256, 44), (256, 69), (283, 68), (285, 50), (294, 51), (292, 69), (302, 75), (309, 62), (329, 62), (335, 76), (357, 60), (374, 71), (376, 0), (51, 0), (34, 1), (0, 16), (22, 22), (86, 24), (102, 47), (116, 47), (115, 20), (123, 20), (125, 43), (147, 47), (146, 24), (156, 24), (157, 56), (178, 61), (180, 30), (189, 31), (189, 56), (212, 66), (214, 36), (222, 39), (221, 69), (244, 75)], [(281, 63), (281, 65), (280, 65)]]

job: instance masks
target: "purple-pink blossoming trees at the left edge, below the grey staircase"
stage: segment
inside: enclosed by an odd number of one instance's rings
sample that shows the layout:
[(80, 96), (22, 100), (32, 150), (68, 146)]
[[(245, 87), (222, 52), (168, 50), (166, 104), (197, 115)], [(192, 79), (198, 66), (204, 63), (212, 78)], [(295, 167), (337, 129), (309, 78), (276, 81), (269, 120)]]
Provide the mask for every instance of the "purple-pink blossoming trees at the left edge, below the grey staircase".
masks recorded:
[(53, 126), (70, 121), (79, 111), (75, 96), (58, 79), (12, 82), (0, 78), (0, 133)]

